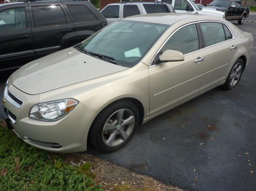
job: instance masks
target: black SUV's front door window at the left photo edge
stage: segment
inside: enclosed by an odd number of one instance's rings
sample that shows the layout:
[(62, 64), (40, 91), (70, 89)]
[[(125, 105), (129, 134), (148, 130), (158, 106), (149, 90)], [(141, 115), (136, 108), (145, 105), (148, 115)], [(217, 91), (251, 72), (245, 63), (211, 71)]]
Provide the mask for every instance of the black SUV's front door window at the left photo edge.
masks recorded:
[(0, 32), (5, 30), (25, 29), (26, 27), (25, 7), (8, 9), (0, 12)]

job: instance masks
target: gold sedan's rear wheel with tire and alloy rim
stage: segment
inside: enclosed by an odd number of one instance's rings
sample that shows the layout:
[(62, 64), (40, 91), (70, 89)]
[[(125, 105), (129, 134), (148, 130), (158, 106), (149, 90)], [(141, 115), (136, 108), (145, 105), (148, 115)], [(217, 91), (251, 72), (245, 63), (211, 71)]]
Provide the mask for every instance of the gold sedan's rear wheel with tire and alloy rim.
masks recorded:
[(235, 88), (242, 77), (243, 69), (243, 60), (236, 60), (235, 64), (232, 66), (232, 69), (230, 70), (230, 73), (226, 79), (225, 84), (223, 85), (223, 88), (225, 88), (226, 90)]

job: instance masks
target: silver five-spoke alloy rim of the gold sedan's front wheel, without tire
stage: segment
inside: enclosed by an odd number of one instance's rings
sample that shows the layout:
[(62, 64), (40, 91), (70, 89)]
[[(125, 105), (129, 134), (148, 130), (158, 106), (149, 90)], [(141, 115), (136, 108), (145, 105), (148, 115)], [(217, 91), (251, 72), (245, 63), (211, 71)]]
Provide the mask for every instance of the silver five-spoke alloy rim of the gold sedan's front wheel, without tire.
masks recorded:
[(129, 109), (120, 109), (105, 122), (102, 130), (103, 142), (108, 147), (122, 144), (133, 132), (134, 114)]

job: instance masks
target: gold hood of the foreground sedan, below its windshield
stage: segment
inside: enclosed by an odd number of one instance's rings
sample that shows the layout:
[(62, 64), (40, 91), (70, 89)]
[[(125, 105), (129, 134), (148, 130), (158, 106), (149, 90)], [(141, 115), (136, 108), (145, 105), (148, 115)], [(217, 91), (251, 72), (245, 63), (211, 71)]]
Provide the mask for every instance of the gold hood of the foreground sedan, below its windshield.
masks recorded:
[(12, 74), (12, 84), (39, 94), (128, 69), (68, 48), (37, 59)]

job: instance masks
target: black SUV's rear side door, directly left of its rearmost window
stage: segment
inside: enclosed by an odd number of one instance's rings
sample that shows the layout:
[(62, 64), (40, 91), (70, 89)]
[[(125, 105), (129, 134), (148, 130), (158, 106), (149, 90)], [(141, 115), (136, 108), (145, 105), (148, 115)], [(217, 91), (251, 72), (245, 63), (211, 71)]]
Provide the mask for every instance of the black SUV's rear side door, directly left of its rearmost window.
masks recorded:
[(74, 25), (61, 1), (30, 2), (29, 9), (38, 57), (67, 48), (75, 42)]

